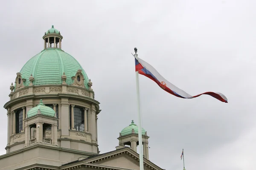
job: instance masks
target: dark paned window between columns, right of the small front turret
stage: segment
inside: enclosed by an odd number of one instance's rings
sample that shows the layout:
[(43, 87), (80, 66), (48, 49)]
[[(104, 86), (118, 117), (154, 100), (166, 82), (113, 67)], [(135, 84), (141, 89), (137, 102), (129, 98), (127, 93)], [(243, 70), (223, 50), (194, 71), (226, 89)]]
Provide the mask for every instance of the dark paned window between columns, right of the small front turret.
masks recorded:
[[(70, 106), (70, 129), (71, 127), (71, 109)], [(74, 107), (74, 127), (78, 131), (84, 131), (84, 111), (83, 108)]]

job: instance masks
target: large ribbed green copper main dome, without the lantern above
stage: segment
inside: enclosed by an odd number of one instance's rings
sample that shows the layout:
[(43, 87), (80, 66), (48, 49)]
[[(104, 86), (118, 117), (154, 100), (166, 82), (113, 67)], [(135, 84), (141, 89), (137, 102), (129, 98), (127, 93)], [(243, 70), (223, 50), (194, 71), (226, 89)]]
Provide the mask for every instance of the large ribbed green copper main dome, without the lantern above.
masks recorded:
[(20, 70), (20, 74), (26, 79), (25, 86), (29, 85), (31, 74), (34, 77), (33, 85), (61, 85), (63, 73), (67, 76), (66, 83), (72, 85), (72, 77), (78, 70), (82, 70), (84, 86), (88, 88), (87, 74), (74, 57), (60, 48), (46, 48), (29, 59)]

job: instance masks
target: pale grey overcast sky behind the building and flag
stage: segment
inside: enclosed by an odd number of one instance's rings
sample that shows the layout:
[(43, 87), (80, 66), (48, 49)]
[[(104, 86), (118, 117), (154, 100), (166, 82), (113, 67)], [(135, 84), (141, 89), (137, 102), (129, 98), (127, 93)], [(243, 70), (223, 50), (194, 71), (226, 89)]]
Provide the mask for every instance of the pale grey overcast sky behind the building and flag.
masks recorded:
[[(93, 82), (102, 112), (100, 153), (115, 150), (119, 132), (137, 123), (134, 47), (169, 82), (191, 95), (180, 99), (140, 76), (149, 159), (166, 170), (247, 170), (256, 167), (256, 1), (93, 0), (2, 1), (0, 105), (16, 73), (44, 48), (52, 25), (62, 49)], [(7, 111), (0, 108), (0, 155), (7, 144)]]

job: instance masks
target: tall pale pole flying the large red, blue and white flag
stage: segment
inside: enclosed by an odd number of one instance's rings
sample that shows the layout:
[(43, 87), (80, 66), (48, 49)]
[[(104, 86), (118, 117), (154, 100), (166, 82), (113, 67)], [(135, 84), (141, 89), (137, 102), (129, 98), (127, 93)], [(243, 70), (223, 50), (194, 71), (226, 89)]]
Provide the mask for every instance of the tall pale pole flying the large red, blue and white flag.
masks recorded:
[[(134, 57), (138, 59), (137, 48), (134, 48)], [(141, 130), (141, 114), (140, 114), (140, 87), (139, 87), (139, 72), (136, 71), (136, 90), (137, 90), (137, 106), (138, 106), (138, 128), (139, 128), (139, 155), (140, 155), (140, 170), (143, 167), (143, 146), (142, 146), (142, 130)]]

